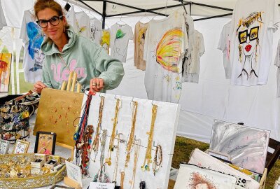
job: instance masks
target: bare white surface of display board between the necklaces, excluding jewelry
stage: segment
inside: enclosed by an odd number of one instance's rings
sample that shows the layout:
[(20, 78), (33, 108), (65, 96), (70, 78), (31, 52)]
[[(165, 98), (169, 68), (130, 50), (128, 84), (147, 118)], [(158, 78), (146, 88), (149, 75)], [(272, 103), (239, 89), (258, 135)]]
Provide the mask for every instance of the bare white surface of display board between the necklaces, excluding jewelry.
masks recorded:
[[(179, 111), (180, 105), (167, 103), (167, 102), (153, 102), (148, 99), (138, 99), (132, 97), (123, 97), (116, 96), (113, 94), (99, 94), (92, 96), (92, 101), (90, 103), (90, 111), (87, 119), (87, 125), (94, 126), (94, 134), (92, 135), (92, 140), (94, 139), (94, 135), (97, 129), (97, 123), (99, 118), (99, 103), (101, 101), (101, 97), (105, 97), (104, 99), (104, 110), (103, 110), (103, 118), (102, 118), (102, 130), (107, 130), (106, 137), (106, 146), (105, 146), (105, 154), (104, 160), (108, 158), (109, 154), (109, 142), (111, 137), (111, 132), (113, 130), (113, 118), (115, 117), (115, 109), (117, 99), (121, 99), (121, 108), (118, 114), (118, 125), (116, 126), (116, 131), (123, 134), (121, 139), (125, 141), (128, 140), (130, 136), (130, 130), (132, 125), (132, 109), (133, 104), (132, 101), (138, 102), (137, 109), (137, 118), (135, 125), (135, 136), (136, 139), (141, 140), (141, 148), (139, 151), (139, 159), (137, 163), (136, 176), (135, 176), (135, 188), (139, 188), (140, 181), (146, 181), (146, 188), (162, 188), (165, 189), (168, 186), (169, 181), (169, 172), (172, 163), (172, 155), (174, 152), (174, 144), (176, 137), (176, 129), (179, 120)], [(84, 96), (83, 104), (85, 104), (87, 99), (87, 95)], [(143, 172), (141, 166), (144, 164), (144, 159), (146, 155), (146, 146), (148, 144), (148, 134), (151, 128), (151, 118), (152, 118), (152, 108), (153, 104), (158, 105), (158, 112), (155, 119), (155, 127), (153, 134), (153, 141), (155, 146), (160, 144), (162, 146), (162, 167), (160, 167), (159, 171), (153, 175), (152, 163), (150, 164), (150, 171)], [(102, 132), (100, 133), (100, 137), (102, 136)], [(114, 145), (118, 145), (118, 140), (115, 139)], [(118, 175), (116, 179), (116, 185), (120, 186), (120, 172), (123, 172), (125, 169), (125, 157), (126, 157), (126, 145), (127, 143), (120, 143), (119, 148), (119, 162), (118, 162)], [(152, 160), (155, 155), (155, 147), (153, 146), (152, 151)], [(113, 172), (115, 168), (115, 160), (116, 160), (116, 149), (111, 153), (111, 162), (112, 165), (106, 165), (106, 174), (109, 178), (113, 179)], [(90, 177), (94, 177), (95, 174), (100, 169), (100, 153), (101, 146), (99, 142), (99, 153), (96, 157), (96, 162), (94, 162), (94, 152), (91, 153), (91, 160), (89, 165), (89, 173)], [(124, 188), (130, 188), (130, 182), (132, 181), (134, 167), (134, 149), (130, 153), (130, 162), (128, 167), (125, 169), (125, 180), (124, 180)]]

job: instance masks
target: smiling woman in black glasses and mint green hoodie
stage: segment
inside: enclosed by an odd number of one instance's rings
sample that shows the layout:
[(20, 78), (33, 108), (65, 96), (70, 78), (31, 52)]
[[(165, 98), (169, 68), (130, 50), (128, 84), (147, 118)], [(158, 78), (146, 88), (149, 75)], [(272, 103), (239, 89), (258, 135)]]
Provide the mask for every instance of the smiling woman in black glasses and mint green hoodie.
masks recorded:
[(67, 25), (62, 7), (53, 0), (38, 0), (34, 5), (38, 25), (47, 36), (41, 45), (45, 53), (43, 79), (34, 84), (41, 93), (44, 87), (59, 89), (76, 71), (78, 83), (84, 90), (106, 92), (118, 87), (123, 78), (123, 64), (113, 59), (87, 38), (77, 36)]

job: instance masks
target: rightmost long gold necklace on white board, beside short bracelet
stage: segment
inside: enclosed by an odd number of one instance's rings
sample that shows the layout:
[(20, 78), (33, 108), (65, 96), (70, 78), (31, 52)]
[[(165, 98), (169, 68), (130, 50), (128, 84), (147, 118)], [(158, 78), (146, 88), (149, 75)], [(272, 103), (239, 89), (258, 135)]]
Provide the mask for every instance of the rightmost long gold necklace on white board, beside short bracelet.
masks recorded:
[(155, 118), (157, 117), (157, 111), (158, 111), (158, 106), (153, 104), (151, 128), (150, 128), (150, 132), (147, 132), (147, 134), (149, 135), (148, 145), (146, 148), (144, 164), (141, 166), (141, 169), (143, 171), (150, 171), (149, 165), (152, 162), (153, 131), (154, 131), (154, 127), (155, 127)]

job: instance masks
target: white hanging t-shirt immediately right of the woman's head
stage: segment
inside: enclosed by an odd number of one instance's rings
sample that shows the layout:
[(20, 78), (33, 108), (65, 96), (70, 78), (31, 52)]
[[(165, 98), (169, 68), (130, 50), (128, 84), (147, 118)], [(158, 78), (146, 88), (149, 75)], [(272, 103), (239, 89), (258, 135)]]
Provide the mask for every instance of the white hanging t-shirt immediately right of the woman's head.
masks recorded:
[(90, 38), (90, 17), (85, 12), (75, 13), (76, 17), (76, 33), (79, 36), (84, 36), (85, 38)]

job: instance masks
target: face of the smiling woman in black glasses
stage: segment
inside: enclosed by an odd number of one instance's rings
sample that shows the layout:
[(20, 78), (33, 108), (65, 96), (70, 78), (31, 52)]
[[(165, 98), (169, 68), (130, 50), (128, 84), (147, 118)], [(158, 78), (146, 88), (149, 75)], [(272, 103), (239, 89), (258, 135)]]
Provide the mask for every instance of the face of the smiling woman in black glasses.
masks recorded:
[[(45, 8), (38, 12), (37, 17), (38, 20), (50, 20), (50, 18), (54, 16), (60, 16), (55, 10), (52, 10), (50, 8)], [(48, 22), (47, 27), (42, 28), (44, 33), (53, 41), (57, 42), (61, 40), (62, 35), (65, 35), (63, 32), (64, 25), (66, 25), (66, 20), (63, 17), (62, 20), (59, 19), (59, 24), (56, 26), (53, 26)]]

